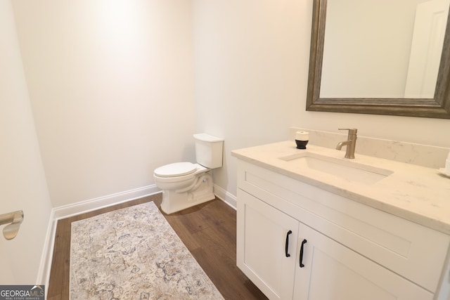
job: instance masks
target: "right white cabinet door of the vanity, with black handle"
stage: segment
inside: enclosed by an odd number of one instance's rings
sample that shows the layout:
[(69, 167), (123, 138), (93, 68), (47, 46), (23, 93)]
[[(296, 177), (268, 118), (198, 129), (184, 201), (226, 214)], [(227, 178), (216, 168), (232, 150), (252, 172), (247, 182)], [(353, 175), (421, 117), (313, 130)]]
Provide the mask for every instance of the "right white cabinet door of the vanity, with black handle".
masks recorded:
[[(303, 257), (300, 249), (303, 240)], [(293, 299), (426, 300), (433, 294), (300, 223)], [(300, 262), (303, 267), (300, 267)]]

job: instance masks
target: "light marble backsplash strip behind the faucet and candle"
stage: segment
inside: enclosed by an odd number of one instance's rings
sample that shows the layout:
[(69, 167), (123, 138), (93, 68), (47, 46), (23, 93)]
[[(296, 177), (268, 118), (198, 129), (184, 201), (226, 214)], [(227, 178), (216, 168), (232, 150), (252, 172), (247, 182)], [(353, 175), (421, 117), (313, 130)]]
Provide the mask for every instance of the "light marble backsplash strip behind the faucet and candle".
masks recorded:
[[(311, 145), (318, 145), (333, 149), (339, 142), (345, 141), (347, 138), (347, 133), (334, 133), (314, 129), (290, 127), (290, 140), (295, 140), (295, 132), (297, 131), (308, 131), (309, 143), (311, 143)], [(405, 162), (407, 164), (416, 164), (422, 167), (439, 169), (445, 167), (445, 161), (449, 155), (449, 150), (449, 148), (432, 145), (390, 141), (383, 140), (381, 138), (369, 138), (367, 136), (358, 135), (356, 140), (355, 155), (369, 155), (373, 157), (391, 159), (397, 162)], [(345, 153), (345, 147), (342, 147), (341, 151), (342, 153)]]

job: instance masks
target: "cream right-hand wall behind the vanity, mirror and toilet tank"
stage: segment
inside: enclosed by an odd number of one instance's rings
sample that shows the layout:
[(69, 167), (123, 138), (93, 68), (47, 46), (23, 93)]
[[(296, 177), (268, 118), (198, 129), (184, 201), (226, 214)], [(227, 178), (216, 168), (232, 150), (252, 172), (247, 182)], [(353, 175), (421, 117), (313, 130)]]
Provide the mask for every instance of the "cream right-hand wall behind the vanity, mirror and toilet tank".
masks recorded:
[(283, 141), (288, 126), (355, 127), (362, 136), (450, 147), (448, 119), (305, 110), (312, 0), (193, 3), (198, 131), (225, 138), (225, 165), (214, 181), (232, 195), (230, 151)]

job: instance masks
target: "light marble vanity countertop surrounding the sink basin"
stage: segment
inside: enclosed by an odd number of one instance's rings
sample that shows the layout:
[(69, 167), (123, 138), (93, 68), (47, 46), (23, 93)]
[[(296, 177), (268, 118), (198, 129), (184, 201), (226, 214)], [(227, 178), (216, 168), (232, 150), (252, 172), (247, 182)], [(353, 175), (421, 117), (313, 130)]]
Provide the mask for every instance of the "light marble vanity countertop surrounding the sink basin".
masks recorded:
[[(300, 152), (342, 159), (343, 164), (349, 160), (351, 163), (387, 169), (392, 171), (392, 174), (372, 184), (356, 183), (302, 168), (300, 164), (280, 158)], [(450, 234), (450, 178), (441, 174), (438, 169), (359, 155), (357, 149), (355, 159), (346, 159), (343, 150), (309, 144), (306, 150), (301, 150), (295, 147), (293, 141), (233, 150), (231, 155), (330, 193)]]

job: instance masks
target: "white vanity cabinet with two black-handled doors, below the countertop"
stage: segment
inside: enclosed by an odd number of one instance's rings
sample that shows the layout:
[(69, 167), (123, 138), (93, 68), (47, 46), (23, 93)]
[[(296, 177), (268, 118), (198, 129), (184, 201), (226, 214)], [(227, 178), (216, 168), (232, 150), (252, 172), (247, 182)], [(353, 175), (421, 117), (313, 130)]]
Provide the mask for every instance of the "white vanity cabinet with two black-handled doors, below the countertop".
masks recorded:
[(269, 299), (435, 299), (449, 236), (238, 162), (237, 264)]

